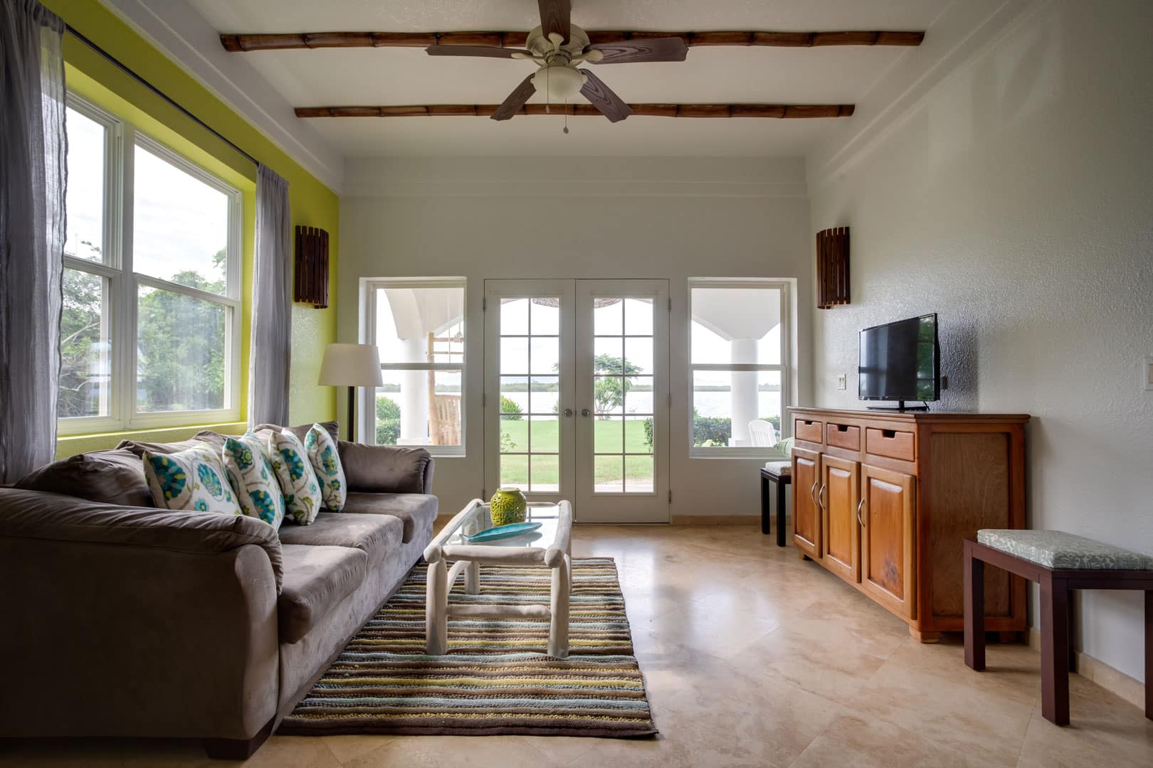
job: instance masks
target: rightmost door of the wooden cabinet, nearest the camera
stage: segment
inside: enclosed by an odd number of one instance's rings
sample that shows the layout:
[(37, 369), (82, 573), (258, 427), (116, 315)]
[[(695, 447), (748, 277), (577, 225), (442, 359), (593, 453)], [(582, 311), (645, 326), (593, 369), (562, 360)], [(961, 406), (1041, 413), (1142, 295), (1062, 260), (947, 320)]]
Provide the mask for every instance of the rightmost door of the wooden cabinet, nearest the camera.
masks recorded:
[(910, 474), (860, 467), (861, 586), (889, 610), (909, 618), (917, 616), (914, 482)]

